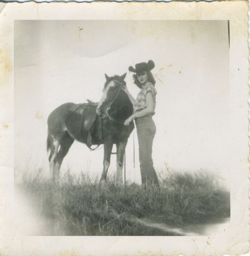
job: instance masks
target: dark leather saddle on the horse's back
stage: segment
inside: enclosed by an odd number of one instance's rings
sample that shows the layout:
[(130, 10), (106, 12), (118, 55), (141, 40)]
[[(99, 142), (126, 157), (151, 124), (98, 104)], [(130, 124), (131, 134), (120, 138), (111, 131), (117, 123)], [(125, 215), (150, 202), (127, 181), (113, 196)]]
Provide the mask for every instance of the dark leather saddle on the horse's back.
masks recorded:
[[(76, 104), (70, 108), (72, 112), (72, 117), (74, 116), (74, 122), (78, 123), (77, 127), (78, 134), (81, 134), (82, 130), (88, 131), (88, 138), (86, 138), (86, 145), (90, 148), (92, 145), (92, 132), (94, 128), (94, 123), (97, 120), (98, 115), (97, 111), (98, 102), (92, 102), (88, 99), (88, 103)], [(101, 122), (100, 122), (101, 124)], [(97, 129), (97, 137), (99, 140), (102, 140), (102, 127), (99, 125)]]

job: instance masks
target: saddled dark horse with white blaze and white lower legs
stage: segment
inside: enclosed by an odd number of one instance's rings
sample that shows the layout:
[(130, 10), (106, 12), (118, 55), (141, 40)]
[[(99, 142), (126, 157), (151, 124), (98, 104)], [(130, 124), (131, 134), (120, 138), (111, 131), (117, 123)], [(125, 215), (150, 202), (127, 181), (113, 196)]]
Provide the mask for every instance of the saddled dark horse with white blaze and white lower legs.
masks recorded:
[[(117, 148), (116, 184), (122, 184), (124, 152), (134, 123), (124, 121), (133, 113), (133, 105), (122, 89), (126, 85), (122, 76), (109, 77), (98, 103), (65, 103), (54, 109), (47, 118), (47, 151), (49, 152), (51, 179), (59, 183), (60, 168), (74, 140), (91, 145), (104, 145), (103, 170), (100, 182), (107, 181), (113, 144)], [(81, 111), (77, 111), (80, 109)], [(91, 135), (91, 140), (89, 137)], [(89, 143), (91, 141), (91, 143)]]

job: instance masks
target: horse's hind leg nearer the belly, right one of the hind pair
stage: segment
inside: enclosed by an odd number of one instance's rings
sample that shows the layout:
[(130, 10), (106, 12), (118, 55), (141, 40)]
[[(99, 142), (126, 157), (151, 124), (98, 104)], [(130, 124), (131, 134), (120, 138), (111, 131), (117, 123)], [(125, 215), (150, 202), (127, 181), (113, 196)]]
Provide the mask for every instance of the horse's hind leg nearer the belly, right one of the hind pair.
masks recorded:
[(66, 156), (66, 154), (69, 152), (69, 149), (71, 147), (71, 145), (73, 144), (74, 139), (71, 138), (71, 136), (66, 133), (64, 138), (62, 139), (61, 143), (60, 143), (60, 150), (57, 153), (57, 156), (55, 158), (55, 181), (56, 183), (59, 183), (59, 175), (60, 175), (60, 168), (62, 165), (62, 161), (64, 159), (64, 157)]

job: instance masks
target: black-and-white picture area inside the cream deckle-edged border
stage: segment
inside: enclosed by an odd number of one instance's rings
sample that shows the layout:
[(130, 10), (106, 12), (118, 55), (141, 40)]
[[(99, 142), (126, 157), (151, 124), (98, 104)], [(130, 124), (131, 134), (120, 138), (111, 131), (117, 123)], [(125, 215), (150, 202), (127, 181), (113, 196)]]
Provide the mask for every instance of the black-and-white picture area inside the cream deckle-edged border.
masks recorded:
[(230, 22), (16, 20), (26, 235), (209, 236), (230, 222)]

